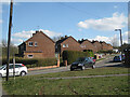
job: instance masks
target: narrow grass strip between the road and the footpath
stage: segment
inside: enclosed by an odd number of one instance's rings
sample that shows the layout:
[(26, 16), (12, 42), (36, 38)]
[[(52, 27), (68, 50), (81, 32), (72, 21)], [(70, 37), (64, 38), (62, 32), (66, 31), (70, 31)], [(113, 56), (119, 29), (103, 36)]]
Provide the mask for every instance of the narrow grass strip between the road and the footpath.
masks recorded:
[(106, 68), (95, 68), (95, 69), (86, 69), (86, 70), (75, 70), (75, 71), (66, 71), (66, 72), (55, 72), (55, 73), (47, 73), (39, 74), (36, 77), (39, 78), (60, 78), (60, 77), (84, 77), (84, 75), (103, 75), (103, 74), (120, 74), (128, 73), (128, 68), (122, 67), (106, 67)]

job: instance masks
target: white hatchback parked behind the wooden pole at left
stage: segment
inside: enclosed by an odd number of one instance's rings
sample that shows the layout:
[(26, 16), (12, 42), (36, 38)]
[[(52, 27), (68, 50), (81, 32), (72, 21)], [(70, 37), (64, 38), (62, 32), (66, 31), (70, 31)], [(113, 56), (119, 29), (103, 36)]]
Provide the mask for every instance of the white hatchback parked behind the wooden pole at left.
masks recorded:
[[(13, 77), (13, 64), (9, 65), (9, 77)], [(15, 75), (24, 77), (27, 74), (27, 67), (23, 64), (15, 64)], [(6, 65), (0, 67), (0, 77), (6, 77)]]

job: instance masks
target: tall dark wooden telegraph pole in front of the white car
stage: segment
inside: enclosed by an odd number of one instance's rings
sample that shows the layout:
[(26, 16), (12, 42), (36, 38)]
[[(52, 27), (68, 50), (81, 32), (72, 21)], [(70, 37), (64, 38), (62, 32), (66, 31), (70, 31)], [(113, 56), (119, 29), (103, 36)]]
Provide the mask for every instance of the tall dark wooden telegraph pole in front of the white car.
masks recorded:
[(9, 36), (8, 36), (8, 57), (6, 57), (6, 81), (9, 81), (9, 64), (10, 64), (10, 43), (11, 43), (12, 13), (13, 13), (13, 0), (11, 0), (11, 5), (10, 5), (10, 22), (9, 22)]

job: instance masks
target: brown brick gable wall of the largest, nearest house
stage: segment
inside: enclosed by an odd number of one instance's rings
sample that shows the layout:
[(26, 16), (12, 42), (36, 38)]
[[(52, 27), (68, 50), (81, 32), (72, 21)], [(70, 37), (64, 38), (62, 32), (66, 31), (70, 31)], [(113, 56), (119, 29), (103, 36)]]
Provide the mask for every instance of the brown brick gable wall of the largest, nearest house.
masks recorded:
[[(32, 46), (29, 46), (28, 43), (32, 42)], [(35, 46), (35, 42), (37, 42), (37, 46)], [(55, 44), (52, 42), (47, 36), (42, 32), (36, 33), (34, 37), (28, 39), (26, 42), (26, 51), (27, 52), (42, 52), (42, 53), (34, 53), (34, 56), (39, 58), (54, 57), (55, 56)], [(26, 56), (28, 53), (24, 53)], [(31, 53), (30, 53), (31, 54)]]

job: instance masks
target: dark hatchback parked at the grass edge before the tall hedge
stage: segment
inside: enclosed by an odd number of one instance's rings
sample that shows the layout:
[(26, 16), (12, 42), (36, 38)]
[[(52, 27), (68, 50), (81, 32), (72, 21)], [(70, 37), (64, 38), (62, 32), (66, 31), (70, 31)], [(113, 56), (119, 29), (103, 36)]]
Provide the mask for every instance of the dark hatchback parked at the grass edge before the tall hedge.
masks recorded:
[(89, 57), (79, 57), (75, 63), (70, 65), (70, 71), (75, 69), (83, 70), (88, 67), (95, 68), (95, 63)]

